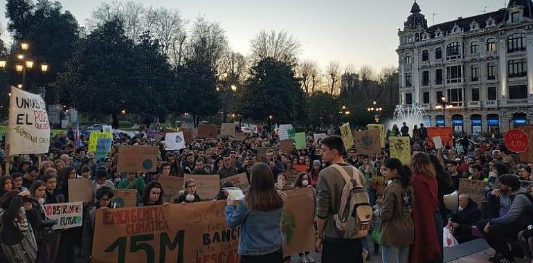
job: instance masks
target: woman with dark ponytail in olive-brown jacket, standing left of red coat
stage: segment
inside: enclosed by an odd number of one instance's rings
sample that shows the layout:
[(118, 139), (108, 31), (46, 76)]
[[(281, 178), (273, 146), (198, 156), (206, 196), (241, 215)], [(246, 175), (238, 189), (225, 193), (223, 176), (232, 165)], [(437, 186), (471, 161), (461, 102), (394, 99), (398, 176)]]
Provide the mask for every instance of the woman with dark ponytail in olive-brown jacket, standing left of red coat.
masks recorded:
[(382, 260), (408, 263), (415, 232), (411, 217), (415, 194), (410, 186), (410, 170), (397, 158), (388, 158), (382, 170), (389, 183), (383, 193), (381, 210), (374, 211), (374, 216), (383, 221), (379, 233)]

